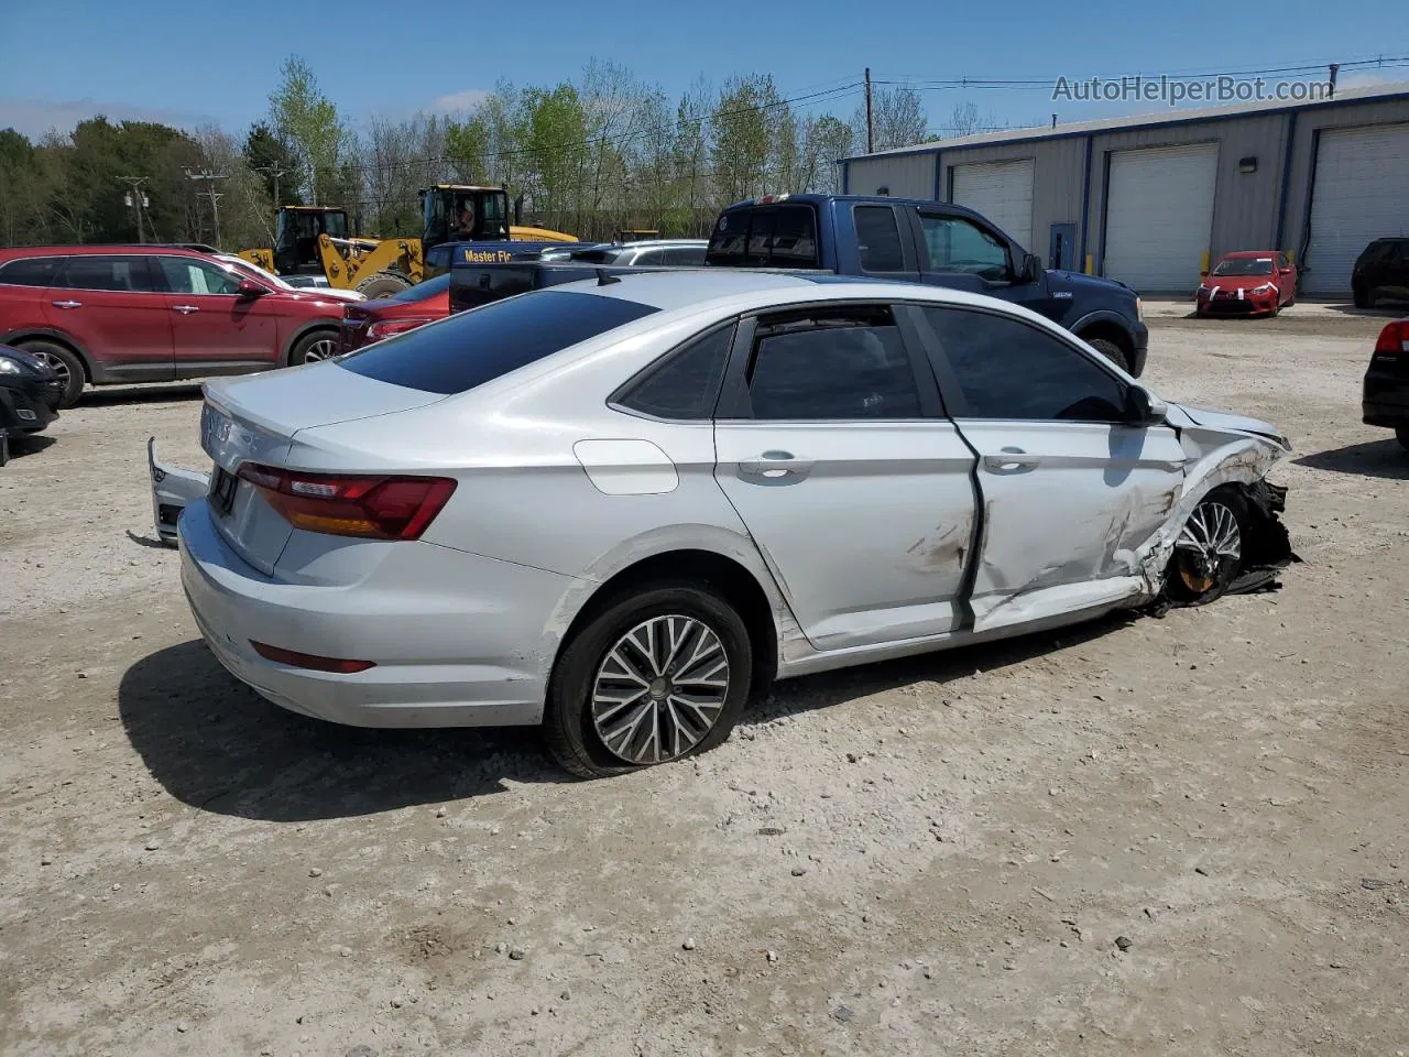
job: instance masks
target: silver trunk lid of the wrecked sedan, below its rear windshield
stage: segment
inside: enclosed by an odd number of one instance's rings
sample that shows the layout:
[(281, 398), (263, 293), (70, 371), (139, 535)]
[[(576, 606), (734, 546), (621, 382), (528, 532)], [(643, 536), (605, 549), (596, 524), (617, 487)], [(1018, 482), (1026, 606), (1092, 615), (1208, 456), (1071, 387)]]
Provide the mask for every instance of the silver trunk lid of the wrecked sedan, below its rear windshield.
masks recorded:
[(442, 399), (355, 375), (334, 362), (207, 383), (200, 445), (216, 464), (207, 496), (216, 528), (241, 558), (271, 575), (293, 526), (254, 485), (238, 479), (240, 468), (245, 462), (287, 466), (300, 430), (395, 414)]

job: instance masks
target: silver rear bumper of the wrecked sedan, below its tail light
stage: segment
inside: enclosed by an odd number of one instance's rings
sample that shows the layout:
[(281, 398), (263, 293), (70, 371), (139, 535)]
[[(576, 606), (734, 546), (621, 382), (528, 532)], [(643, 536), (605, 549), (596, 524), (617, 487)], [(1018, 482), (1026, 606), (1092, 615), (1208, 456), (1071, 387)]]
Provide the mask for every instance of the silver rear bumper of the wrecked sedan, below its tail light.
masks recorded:
[[(434, 544), (416, 564), (352, 585), (280, 582), (221, 538), (204, 499), (179, 524), (182, 586), (220, 662), (275, 705), (362, 727), (534, 724), (555, 643), (547, 629), (568, 576)], [(273, 662), (252, 640), (314, 657), (372, 661), (356, 674)]]

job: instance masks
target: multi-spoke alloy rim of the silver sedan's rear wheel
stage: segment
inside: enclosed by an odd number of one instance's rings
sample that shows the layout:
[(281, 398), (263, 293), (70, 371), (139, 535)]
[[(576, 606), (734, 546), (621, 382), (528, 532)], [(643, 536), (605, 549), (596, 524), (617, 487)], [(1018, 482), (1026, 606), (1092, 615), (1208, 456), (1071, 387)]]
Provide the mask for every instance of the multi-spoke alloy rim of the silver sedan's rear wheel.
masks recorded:
[(638, 767), (689, 753), (728, 698), (728, 655), (702, 620), (644, 620), (607, 651), (592, 684), (592, 723), (602, 744)]

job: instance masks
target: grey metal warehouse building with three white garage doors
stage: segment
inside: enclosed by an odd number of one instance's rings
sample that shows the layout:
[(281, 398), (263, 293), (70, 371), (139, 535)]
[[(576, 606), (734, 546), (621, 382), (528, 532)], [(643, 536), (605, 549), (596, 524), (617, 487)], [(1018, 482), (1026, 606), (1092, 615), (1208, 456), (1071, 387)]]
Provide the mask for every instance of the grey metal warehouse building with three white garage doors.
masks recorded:
[(851, 194), (940, 199), (1050, 266), (1188, 293), (1206, 255), (1286, 249), (1346, 296), (1372, 238), (1409, 235), (1409, 85), (969, 135), (847, 158)]

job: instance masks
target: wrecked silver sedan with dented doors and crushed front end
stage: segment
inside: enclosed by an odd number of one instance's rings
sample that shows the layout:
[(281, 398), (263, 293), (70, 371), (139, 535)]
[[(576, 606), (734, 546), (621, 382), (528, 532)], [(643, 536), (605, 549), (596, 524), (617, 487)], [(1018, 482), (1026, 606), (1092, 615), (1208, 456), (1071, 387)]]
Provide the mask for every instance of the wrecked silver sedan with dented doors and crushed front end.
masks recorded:
[(340, 723), (541, 723), (579, 775), (710, 748), (775, 678), (1292, 560), (1271, 426), (906, 283), (603, 276), (211, 382), (201, 444), (154, 505), (237, 678)]

